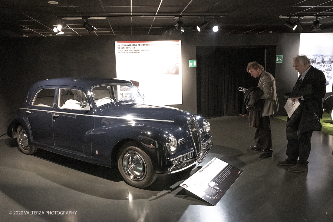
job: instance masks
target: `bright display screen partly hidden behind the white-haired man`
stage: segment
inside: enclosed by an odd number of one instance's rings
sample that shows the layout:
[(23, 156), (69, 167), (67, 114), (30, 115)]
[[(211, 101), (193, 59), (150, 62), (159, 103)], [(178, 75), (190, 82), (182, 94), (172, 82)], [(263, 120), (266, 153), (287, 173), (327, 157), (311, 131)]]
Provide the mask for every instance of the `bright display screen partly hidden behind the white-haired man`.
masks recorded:
[(333, 33), (301, 33), (299, 54), (307, 55), (312, 65), (326, 77), (326, 92), (332, 92)]

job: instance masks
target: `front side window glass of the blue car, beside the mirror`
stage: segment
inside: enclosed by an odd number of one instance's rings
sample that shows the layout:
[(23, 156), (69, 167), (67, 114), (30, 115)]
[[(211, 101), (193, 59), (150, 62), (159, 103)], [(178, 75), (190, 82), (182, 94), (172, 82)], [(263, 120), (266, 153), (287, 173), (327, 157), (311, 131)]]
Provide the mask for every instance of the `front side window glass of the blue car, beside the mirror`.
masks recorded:
[(58, 104), (63, 109), (90, 110), (86, 94), (78, 89), (60, 88)]

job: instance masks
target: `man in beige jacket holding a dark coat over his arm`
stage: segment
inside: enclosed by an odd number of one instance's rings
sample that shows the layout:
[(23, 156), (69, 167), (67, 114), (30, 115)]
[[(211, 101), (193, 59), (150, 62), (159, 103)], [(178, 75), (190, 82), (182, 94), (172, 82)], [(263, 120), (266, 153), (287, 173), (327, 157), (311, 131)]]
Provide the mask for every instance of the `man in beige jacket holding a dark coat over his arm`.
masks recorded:
[(275, 79), (257, 62), (250, 62), (246, 70), (254, 78), (259, 78), (258, 87), (264, 92), (260, 99), (265, 99), (260, 124), (256, 128), (254, 134), (256, 145), (250, 146), (250, 148), (256, 151), (264, 151), (264, 153), (259, 155), (260, 158), (271, 157), (273, 155), (273, 150), (270, 115), (273, 115), (274, 112), (279, 110), (279, 103), (275, 90)]

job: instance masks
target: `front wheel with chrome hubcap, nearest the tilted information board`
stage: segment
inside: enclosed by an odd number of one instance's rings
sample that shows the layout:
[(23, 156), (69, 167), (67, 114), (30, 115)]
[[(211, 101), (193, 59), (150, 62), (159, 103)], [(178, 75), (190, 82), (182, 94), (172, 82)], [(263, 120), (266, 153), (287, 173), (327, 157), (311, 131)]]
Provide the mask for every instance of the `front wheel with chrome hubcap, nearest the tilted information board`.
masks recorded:
[(150, 157), (133, 142), (120, 148), (118, 169), (124, 180), (134, 187), (148, 187), (157, 178)]

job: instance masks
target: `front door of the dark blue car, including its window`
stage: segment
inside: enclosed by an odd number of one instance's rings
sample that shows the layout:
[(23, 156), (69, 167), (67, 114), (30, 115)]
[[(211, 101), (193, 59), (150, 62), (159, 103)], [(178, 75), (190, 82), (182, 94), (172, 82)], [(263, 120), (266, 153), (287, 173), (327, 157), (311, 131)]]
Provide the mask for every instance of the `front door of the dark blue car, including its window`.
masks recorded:
[(58, 87), (57, 92), (58, 101), (53, 112), (54, 145), (91, 156), (94, 112), (87, 94), (74, 87)]

